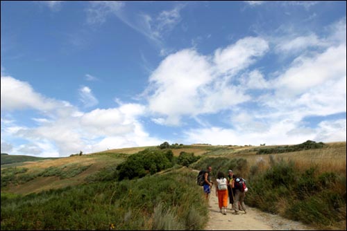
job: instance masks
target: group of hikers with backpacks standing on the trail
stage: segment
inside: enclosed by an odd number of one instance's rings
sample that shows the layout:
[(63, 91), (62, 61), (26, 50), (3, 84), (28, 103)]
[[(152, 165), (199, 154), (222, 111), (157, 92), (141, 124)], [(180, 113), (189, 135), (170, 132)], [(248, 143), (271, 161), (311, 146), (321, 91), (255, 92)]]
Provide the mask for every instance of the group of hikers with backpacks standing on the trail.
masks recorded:
[[(203, 170), (202, 170), (203, 171)], [(208, 166), (207, 171), (204, 171), (203, 192), (205, 193), (206, 201), (210, 198), (212, 185), (211, 180), (212, 167)], [(246, 182), (243, 178), (238, 177), (232, 172), (232, 169), (228, 170), (228, 176), (225, 176), (223, 172), (218, 172), (216, 185), (216, 196), (218, 196), (219, 211), (226, 215), (226, 209), (229, 203), (232, 205), (231, 210), (234, 210), (232, 214), (239, 214), (239, 210), (243, 210), (246, 214), (246, 207), (244, 205), (245, 192), (247, 192)]]

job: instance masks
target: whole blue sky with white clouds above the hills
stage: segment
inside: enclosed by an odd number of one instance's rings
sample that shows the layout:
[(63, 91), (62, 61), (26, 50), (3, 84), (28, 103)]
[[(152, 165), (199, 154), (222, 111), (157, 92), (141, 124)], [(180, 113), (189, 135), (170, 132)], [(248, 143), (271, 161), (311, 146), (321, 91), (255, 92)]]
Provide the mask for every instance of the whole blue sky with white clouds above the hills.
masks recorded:
[(1, 153), (346, 141), (346, 1), (1, 1)]

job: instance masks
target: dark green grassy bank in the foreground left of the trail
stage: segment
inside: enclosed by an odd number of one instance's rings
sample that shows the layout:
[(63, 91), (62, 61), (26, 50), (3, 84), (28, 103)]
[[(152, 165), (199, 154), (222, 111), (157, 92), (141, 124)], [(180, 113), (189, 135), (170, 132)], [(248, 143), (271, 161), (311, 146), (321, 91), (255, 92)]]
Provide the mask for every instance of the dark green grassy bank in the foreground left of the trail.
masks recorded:
[(196, 174), (165, 174), (20, 196), (1, 193), (1, 230), (201, 230), (208, 209)]

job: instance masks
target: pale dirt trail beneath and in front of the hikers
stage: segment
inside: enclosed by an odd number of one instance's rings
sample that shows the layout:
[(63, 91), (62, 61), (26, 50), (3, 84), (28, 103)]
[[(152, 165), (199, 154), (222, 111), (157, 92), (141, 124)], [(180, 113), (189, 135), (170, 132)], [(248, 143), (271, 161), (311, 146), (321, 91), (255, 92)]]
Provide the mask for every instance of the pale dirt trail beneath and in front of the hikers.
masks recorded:
[(205, 230), (313, 230), (310, 226), (291, 221), (281, 216), (268, 214), (246, 205), (246, 212), (232, 214), (228, 205), (227, 214), (219, 212), (218, 198), (214, 189), (210, 195), (209, 221)]

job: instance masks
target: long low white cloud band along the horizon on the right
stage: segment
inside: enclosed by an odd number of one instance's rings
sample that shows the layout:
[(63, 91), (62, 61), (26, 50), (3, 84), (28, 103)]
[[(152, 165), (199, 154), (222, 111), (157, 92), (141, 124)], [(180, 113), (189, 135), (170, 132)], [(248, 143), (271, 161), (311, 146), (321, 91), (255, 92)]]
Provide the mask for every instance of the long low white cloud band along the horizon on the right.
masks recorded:
[(189, 143), (212, 145), (295, 145), (306, 140), (334, 142), (346, 140), (346, 120), (323, 121), (316, 128), (302, 127), (293, 120), (276, 120), (258, 129), (256, 124), (244, 124), (236, 129), (210, 127), (189, 129), (185, 140)]

